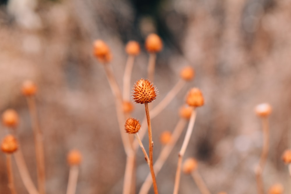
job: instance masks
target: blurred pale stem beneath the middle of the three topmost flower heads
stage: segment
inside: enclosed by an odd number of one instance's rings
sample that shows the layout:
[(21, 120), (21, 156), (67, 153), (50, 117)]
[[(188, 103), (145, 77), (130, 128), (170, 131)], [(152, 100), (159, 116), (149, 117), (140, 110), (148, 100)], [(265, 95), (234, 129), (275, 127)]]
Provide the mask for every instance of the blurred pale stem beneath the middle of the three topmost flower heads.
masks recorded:
[(123, 100), (130, 100), (130, 78), (132, 73), (132, 67), (134, 64), (134, 56), (128, 55), (124, 75), (123, 75)]

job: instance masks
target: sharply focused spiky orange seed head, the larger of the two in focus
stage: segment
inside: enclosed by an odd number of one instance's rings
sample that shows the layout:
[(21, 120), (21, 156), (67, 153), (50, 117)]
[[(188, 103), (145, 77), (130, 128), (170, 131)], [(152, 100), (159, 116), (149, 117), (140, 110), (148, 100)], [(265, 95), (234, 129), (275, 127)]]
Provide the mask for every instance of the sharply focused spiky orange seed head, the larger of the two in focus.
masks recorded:
[(136, 103), (144, 104), (152, 102), (157, 97), (155, 86), (147, 79), (139, 79), (134, 84), (132, 97)]

